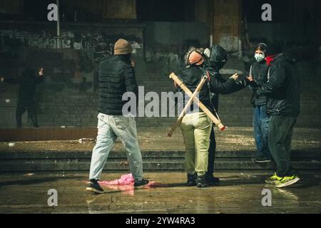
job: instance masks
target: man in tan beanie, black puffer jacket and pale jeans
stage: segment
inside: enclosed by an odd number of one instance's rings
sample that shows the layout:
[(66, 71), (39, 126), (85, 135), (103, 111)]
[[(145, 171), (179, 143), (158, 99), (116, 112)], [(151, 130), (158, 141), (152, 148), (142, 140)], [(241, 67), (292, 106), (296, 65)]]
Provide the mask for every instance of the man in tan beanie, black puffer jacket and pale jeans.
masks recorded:
[(123, 113), (126, 103), (123, 100), (124, 93), (136, 95), (138, 99), (131, 51), (131, 44), (121, 38), (115, 43), (114, 56), (99, 65), (98, 136), (91, 157), (90, 182), (86, 188), (89, 192), (103, 193), (98, 180), (116, 138), (120, 138), (126, 148), (131, 174), (135, 179), (134, 186), (148, 184), (148, 180), (143, 179), (143, 161), (133, 117), (136, 110)]

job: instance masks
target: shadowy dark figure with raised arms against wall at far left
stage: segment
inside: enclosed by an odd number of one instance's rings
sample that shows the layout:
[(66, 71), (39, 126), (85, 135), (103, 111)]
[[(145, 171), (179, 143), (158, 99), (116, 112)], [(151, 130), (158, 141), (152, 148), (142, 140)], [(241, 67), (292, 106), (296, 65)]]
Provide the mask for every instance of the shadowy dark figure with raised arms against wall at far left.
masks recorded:
[(36, 86), (44, 81), (44, 68), (35, 76), (33, 68), (26, 68), (19, 78), (1, 78), (1, 82), (9, 84), (19, 84), (18, 105), (16, 107), (16, 127), (22, 127), (22, 115), (28, 111), (29, 118), (31, 119), (34, 128), (39, 128), (37, 113), (36, 113), (36, 100), (34, 98)]

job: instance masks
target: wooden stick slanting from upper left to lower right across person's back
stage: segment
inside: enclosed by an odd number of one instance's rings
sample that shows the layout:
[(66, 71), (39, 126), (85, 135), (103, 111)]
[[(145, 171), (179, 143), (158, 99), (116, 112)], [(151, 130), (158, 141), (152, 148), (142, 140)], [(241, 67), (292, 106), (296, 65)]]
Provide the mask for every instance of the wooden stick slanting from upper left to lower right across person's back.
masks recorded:
[[(176, 84), (178, 84), (178, 86), (180, 86), (180, 88), (182, 88), (182, 90), (184, 90), (184, 92), (189, 95), (192, 96), (193, 93), (190, 92), (190, 90), (184, 85), (184, 83), (182, 81), (180, 81), (180, 79), (178, 78), (178, 76), (175, 75), (175, 73), (171, 73), (170, 78), (173, 79), (173, 81), (175, 81)], [(210, 112), (210, 110), (208, 110), (208, 108), (205, 107), (205, 105), (203, 105), (203, 103), (200, 102), (200, 100), (198, 100), (198, 98), (194, 98), (195, 102), (198, 103), (198, 106), (200, 107), (201, 110), (203, 110), (203, 112), (208, 115), (208, 117), (210, 118), (210, 120), (213, 121), (213, 123), (218, 126), (218, 128), (220, 128), (220, 130), (225, 130), (225, 126), (220, 122), (220, 120), (218, 120), (217, 118), (215, 118), (215, 116), (213, 115), (213, 113)]]

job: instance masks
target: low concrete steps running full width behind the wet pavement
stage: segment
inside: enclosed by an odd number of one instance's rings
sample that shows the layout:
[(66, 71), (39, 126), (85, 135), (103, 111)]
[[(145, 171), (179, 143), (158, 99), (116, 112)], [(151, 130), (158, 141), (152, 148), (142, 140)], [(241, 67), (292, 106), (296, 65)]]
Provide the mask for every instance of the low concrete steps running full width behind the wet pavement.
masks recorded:
[[(258, 165), (251, 161), (254, 151), (218, 151), (217, 170), (275, 170), (274, 163)], [(184, 151), (142, 151), (143, 167), (146, 171), (183, 171)], [(126, 152), (112, 151), (104, 170), (128, 172)], [(91, 151), (26, 151), (1, 152), (0, 172), (39, 171), (88, 171)], [(124, 164), (125, 163), (125, 164)], [(320, 170), (321, 151), (292, 152), (292, 167), (295, 170)]]

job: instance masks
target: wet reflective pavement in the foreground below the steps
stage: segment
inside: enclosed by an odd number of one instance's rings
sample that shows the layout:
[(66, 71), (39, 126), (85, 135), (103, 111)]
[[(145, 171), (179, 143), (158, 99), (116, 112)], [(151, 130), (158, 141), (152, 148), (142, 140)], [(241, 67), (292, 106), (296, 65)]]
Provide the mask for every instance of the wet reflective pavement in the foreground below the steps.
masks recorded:
[[(124, 173), (103, 173), (101, 180)], [(86, 192), (87, 172), (0, 174), (0, 213), (320, 213), (320, 172), (300, 173), (296, 185), (277, 189), (263, 182), (267, 172), (219, 172), (219, 186), (185, 186), (183, 172), (148, 172), (154, 185), (104, 187), (103, 195)], [(50, 207), (48, 191), (57, 191), (58, 206)], [(272, 206), (263, 207), (263, 189)], [(52, 198), (51, 198), (52, 199)], [(49, 202), (53, 202), (49, 200)]]

